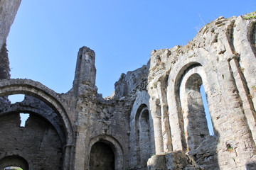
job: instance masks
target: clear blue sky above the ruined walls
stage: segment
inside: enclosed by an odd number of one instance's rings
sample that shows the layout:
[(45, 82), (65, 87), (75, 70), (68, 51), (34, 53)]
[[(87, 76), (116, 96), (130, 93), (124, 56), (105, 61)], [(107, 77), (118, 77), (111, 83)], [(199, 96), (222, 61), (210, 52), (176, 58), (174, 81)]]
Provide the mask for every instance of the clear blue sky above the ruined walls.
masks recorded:
[(65, 93), (87, 46), (96, 52), (98, 93), (110, 96), (120, 75), (146, 64), (152, 50), (186, 45), (215, 18), (255, 10), (252, 0), (23, 0), (7, 39), (11, 78)]

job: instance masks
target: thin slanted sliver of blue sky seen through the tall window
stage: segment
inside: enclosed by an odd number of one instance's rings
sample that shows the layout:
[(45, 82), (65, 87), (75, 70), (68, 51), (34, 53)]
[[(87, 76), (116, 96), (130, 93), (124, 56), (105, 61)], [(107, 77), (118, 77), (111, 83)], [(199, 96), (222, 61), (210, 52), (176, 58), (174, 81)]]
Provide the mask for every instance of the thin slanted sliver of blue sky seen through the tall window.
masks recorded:
[(208, 126), (208, 130), (209, 130), (209, 134), (211, 136), (214, 136), (213, 122), (210, 118), (210, 112), (209, 112), (208, 103), (207, 103), (207, 100), (206, 100), (206, 91), (203, 87), (203, 84), (201, 85), (200, 92), (201, 92), (201, 96), (202, 96), (202, 99), (203, 99), (203, 107), (204, 107), (205, 113), (206, 113), (206, 120), (207, 120), (207, 126)]

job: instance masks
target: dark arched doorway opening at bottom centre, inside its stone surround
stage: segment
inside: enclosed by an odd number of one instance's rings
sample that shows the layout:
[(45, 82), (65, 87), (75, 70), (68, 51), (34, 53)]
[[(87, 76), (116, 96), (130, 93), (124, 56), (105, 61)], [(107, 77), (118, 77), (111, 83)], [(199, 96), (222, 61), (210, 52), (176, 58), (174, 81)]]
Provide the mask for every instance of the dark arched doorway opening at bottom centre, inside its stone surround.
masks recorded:
[(114, 152), (105, 142), (96, 142), (90, 152), (90, 170), (114, 170)]

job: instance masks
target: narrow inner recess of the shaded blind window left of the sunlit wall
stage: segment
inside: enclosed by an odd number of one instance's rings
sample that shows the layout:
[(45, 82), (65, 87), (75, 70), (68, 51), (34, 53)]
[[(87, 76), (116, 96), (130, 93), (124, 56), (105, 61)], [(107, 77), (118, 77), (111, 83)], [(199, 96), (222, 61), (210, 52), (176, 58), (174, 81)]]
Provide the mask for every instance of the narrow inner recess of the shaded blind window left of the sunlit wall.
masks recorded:
[(151, 154), (149, 110), (146, 108), (139, 115), (139, 149), (140, 162), (146, 164)]

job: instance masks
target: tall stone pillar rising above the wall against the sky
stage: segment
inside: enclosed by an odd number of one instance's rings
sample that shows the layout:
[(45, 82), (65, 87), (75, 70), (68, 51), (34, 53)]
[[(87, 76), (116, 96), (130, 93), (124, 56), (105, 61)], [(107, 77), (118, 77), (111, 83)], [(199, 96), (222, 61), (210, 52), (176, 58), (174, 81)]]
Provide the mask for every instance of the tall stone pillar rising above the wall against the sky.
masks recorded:
[(75, 80), (73, 90), (78, 98), (76, 103), (76, 142), (75, 142), (75, 170), (86, 169), (85, 140), (87, 135), (87, 117), (90, 115), (90, 102), (97, 94), (95, 86), (95, 52), (88, 47), (80, 48), (78, 52), (78, 61), (75, 69)]

